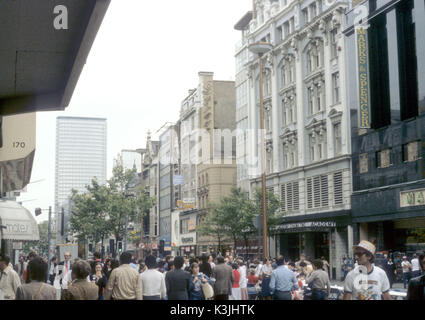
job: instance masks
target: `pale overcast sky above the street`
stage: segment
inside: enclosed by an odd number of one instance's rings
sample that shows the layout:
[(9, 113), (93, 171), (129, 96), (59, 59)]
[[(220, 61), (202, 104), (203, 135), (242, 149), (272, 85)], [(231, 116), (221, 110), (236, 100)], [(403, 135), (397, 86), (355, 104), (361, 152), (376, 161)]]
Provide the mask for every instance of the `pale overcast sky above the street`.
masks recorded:
[[(31, 212), (54, 207), (56, 117), (107, 118), (109, 178), (122, 149), (143, 148), (148, 130), (157, 138), (165, 122), (178, 120), (199, 71), (234, 80), (241, 34), (233, 27), (251, 5), (252, 0), (112, 0), (70, 105), (37, 114), (35, 183), (18, 201)], [(47, 212), (37, 220), (47, 220)]]

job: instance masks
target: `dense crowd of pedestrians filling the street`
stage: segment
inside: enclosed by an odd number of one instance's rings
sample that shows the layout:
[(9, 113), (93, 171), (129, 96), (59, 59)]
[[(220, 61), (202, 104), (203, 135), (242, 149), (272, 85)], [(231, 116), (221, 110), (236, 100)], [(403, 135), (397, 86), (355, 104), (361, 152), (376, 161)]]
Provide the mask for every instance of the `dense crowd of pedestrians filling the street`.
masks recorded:
[[(346, 300), (391, 299), (391, 283), (386, 270), (375, 265), (375, 246), (361, 241), (353, 247), (355, 264), (344, 276)], [(331, 293), (330, 266), (324, 257), (297, 261), (283, 256), (244, 259), (203, 254), (148, 255), (136, 260), (123, 252), (119, 261), (93, 261), (72, 257), (47, 261), (31, 252), (20, 257), (13, 268), (10, 258), (0, 255), (0, 299), (3, 300), (327, 300)], [(391, 263), (391, 261), (388, 261)], [(344, 262), (343, 262), (344, 264)], [(424, 299), (425, 257), (403, 259), (408, 299)]]

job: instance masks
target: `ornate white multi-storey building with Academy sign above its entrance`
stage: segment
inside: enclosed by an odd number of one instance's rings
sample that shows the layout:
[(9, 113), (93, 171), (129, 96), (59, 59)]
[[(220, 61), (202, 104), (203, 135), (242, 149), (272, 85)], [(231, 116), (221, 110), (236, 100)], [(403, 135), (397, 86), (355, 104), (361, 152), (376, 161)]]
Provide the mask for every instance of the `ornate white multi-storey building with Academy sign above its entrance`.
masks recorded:
[[(267, 188), (281, 200), (270, 254), (324, 256), (333, 276), (350, 254), (351, 140), (342, 30), (350, 1), (253, 2), (236, 24), (236, 121), (241, 134), (238, 184), (261, 187), (259, 64), (249, 44), (268, 42), (263, 77)], [(245, 143), (244, 143), (245, 142)], [(238, 144), (240, 146), (240, 144)]]

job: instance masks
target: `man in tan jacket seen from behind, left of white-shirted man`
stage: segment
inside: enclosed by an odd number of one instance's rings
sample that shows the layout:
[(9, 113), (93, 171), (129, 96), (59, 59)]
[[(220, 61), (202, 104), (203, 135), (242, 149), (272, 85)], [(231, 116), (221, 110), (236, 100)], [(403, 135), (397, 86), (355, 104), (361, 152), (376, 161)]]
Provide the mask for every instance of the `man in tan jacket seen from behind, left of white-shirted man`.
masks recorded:
[(112, 270), (106, 285), (105, 300), (142, 300), (142, 280), (139, 273), (130, 267), (131, 253), (120, 256), (120, 266)]

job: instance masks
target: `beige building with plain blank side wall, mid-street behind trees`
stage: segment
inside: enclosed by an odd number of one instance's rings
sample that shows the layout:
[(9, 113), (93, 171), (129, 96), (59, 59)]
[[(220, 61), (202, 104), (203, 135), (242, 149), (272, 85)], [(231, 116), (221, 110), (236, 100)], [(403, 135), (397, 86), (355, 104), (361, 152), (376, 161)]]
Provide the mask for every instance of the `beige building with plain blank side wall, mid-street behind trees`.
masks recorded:
[(208, 202), (219, 202), (236, 184), (234, 82), (213, 78), (212, 72), (199, 72), (197, 88), (181, 104), (182, 255), (216, 252), (217, 240), (200, 236), (196, 226)]

